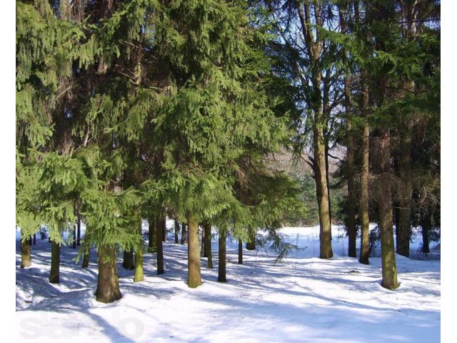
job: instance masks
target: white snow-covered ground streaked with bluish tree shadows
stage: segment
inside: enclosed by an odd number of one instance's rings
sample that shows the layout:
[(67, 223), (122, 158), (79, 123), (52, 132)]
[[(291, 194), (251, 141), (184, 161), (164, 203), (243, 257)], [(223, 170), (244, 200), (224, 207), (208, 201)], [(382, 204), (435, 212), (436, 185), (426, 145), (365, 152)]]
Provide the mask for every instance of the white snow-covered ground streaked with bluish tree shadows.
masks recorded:
[(401, 285), (388, 291), (381, 259), (366, 266), (345, 257), (347, 238), (338, 238), (337, 228), (328, 260), (318, 258), (317, 227), (282, 232), (301, 249), (282, 263), (273, 252), (244, 249), (244, 264), (237, 264), (237, 242), (229, 242), (227, 283), (216, 281), (214, 237), (214, 269), (201, 259), (204, 283), (196, 289), (186, 285), (186, 245), (164, 243), (160, 276), (155, 254), (145, 254), (139, 283), (119, 254), (123, 297), (111, 304), (95, 301), (95, 249), (82, 269), (72, 260), (76, 250), (62, 247), (61, 283), (49, 284), (47, 239), (37, 239), (28, 269), (20, 268), (16, 241), (16, 342), (440, 342), (441, 261), (429, 258), (439, 252), (397, 255)]

